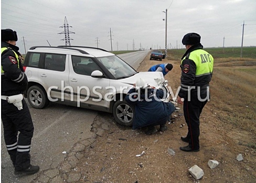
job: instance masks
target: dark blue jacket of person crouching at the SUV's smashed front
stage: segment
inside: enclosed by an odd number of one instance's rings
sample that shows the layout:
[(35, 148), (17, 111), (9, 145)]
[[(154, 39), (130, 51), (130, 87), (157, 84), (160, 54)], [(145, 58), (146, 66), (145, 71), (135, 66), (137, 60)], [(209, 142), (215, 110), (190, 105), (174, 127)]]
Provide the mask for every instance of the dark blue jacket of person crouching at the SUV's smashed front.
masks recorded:
[[(137, 97), (134, 97), (135, 95)], [(152, 99), (152, 101), (146, 101), (145, 97), (148, 100)], [(147, 96), (145, 94), (138, 96), (135, 88), (130, 89), (125, 96), (125, 100), (135, 106), (133, 129), (146, 127), (147, 125), (161, 121), (174, 112), (175, 107), (171, 102), (157, 101), (157, 99), (163, 97), (164, 91), (159, 89), (148, 89)]]

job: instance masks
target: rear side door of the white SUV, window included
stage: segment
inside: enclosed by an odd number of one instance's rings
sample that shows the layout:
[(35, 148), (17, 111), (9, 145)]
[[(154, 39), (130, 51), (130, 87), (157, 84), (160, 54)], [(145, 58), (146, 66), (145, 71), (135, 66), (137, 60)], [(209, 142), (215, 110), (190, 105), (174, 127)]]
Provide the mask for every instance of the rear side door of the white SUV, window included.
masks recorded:
[(44, 66), (38, 70), (38, 83), (44, 86), (50, 101), (69, 100), (69, 64), (66, 54), (45, 53)]

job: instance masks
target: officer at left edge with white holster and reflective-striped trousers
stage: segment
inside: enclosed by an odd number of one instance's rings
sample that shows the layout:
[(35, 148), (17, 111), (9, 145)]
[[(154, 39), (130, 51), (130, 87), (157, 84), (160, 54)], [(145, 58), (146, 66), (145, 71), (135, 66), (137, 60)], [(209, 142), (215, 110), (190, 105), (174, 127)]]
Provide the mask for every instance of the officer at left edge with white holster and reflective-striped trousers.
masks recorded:
[(30, 164), (34, 125), (22, 95), (28, 81), (19, 48), (16, 47), (17, 40), (16, 31), (1, 30), (1, 118), (5, 144), (15, 167), (14, 173), (34, 174), (39, 171), (39, 166)]

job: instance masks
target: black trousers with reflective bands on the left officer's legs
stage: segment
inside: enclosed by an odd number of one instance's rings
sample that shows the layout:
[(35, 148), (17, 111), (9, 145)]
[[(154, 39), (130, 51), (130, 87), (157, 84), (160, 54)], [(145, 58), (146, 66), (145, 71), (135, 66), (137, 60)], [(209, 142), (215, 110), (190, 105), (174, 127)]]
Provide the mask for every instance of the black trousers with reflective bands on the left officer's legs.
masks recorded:
[(1, 99), (4, 140), (15, 170), (22, 170), (29, 167), (30, 144), (34, 133), (34, 125), (24, 99), (22, 100), (22, 104), (23, 109), (18, 110), (13, 104), (8, 104), (6, 100)]

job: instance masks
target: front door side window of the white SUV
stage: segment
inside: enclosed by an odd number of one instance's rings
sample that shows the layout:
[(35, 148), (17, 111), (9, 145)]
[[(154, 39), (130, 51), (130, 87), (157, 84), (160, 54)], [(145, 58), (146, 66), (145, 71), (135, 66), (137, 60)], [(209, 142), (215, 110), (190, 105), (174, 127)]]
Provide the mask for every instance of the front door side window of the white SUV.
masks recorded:
[(100, 71), (100, 67), (91, 58), (83, 56), (71, 56), (73, 70), (77, 74), (90, 76), (95, 70)]

